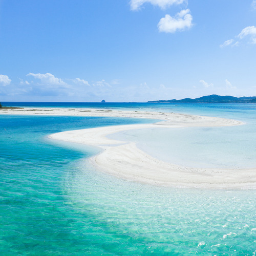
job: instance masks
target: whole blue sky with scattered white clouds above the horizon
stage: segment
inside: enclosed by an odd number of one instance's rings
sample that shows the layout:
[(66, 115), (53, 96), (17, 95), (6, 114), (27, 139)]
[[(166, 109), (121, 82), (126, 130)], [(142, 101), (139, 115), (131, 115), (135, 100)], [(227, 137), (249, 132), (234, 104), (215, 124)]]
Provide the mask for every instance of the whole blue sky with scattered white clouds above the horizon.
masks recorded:
[(256, 0), (0, 0), (0, 101), (256, 96)]

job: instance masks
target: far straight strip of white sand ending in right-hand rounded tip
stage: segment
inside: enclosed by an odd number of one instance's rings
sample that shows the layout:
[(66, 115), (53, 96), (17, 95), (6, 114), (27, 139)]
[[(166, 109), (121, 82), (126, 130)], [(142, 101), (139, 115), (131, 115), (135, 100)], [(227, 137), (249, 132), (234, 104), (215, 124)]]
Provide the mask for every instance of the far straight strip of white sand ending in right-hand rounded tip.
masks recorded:
[[(47, 116), (86, 116), (86, 117), (131, 117), (158, 119), (168, 125), (182, 126), (231, 126), (244, 124), (241, 121), (199, 115), (179, 114), (173, 112), (127, 111), (109, 109), (68, 109), (68, 108), (23, 108), (18, 110), (0, 109), (0, 115), (47, 115)], [(161, 124), (161, 123), (158, 123)], [(166, 124), (166, 123), (162, 123)]]

